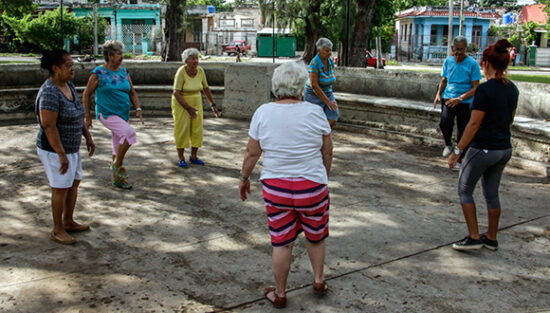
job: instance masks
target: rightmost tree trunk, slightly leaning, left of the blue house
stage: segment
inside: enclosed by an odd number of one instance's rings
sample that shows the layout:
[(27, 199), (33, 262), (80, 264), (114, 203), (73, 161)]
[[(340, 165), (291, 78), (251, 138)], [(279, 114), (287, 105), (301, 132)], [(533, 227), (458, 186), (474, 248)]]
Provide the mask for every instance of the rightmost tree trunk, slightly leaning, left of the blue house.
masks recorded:
[(376, 0), (355, 0), (355, 7), (355, 24), (351, 35), (349, 65), (365, 67), (365, 49), (369, 45)]

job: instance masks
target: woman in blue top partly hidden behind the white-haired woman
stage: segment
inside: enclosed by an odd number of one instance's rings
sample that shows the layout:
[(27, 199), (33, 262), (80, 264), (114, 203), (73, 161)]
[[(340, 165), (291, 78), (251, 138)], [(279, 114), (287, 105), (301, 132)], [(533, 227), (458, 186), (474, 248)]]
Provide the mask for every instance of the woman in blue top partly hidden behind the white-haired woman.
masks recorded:
[(332, 93), (332, 85), (336, 81), (334, 61), (331, 58), (332, 42), (327, 38), (319, 38), (315, 46), (318, 52), (309, 63), (309, 79), (306, 83), (304, 100), (320, 105), (325, 111), (330, 127), (334, 128), (339, 112)]

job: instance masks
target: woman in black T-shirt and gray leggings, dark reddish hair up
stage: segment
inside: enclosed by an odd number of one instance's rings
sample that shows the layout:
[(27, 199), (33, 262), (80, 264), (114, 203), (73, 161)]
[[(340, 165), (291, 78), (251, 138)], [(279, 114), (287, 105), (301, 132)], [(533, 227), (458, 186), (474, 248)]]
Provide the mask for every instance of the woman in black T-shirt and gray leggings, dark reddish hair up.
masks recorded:
[[(498, 188), (502, 171), (512, 156), (510, 125), (518, 103), (519, 91), (505, 76), (510, 61), (511, 44), (501, 39), (483, 51), (481, 68), (487, 82), (479, 85), (474, 94), (470, 121), (460, 142), (449, 156), (453, 168), (466, 147), (458, 179), (458, 194), (468, 226), (468, 236), (453, 244), (456, 250), (477, 250), (486, 247), (498, 249), (497, 231), (500, 218)], [(480, 236), (476, 206), (472, 194), (481, 178), (483, 196), (487, 204), (489, 226)]]

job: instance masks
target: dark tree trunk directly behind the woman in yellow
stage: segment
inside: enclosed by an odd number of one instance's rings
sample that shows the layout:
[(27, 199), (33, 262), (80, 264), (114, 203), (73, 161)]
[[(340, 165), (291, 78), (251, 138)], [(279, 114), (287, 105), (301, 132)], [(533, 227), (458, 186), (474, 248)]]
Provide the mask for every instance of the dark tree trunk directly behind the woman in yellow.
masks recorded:
[(166, 41), (162, 50), (162, 59), (166, 61), (181, 61), (181, 53), (185, 44), (185, 29), (183, 16), (187, 0), (169, 0), (166, 8)]

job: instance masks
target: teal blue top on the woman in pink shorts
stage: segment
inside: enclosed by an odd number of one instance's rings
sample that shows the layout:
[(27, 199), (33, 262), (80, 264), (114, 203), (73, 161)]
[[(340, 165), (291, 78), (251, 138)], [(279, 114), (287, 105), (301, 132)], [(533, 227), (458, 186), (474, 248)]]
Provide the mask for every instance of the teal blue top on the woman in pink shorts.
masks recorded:
[(96, 118), (117, 115), (123, 120), (130, 119), (130, 74), (121, 67), (114, 72), (103, 66), (96, 67), (99, 85), (95, 91)]

